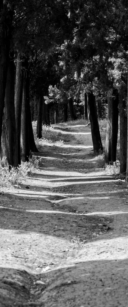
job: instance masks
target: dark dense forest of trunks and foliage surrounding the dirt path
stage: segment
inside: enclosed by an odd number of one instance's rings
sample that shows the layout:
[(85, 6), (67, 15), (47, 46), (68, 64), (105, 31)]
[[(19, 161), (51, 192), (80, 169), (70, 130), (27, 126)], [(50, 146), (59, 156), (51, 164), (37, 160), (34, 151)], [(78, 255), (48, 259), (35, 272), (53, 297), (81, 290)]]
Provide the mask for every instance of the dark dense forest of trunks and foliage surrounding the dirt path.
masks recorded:
[[(128, 2), (22, 0), (0, 2), (0, 149), (2, 166), (18, 167), (37, 151), (42, 124), (107, 119), (104, 165), (128, 178)], [(118, 121), (119, 119), (119, 121)]]

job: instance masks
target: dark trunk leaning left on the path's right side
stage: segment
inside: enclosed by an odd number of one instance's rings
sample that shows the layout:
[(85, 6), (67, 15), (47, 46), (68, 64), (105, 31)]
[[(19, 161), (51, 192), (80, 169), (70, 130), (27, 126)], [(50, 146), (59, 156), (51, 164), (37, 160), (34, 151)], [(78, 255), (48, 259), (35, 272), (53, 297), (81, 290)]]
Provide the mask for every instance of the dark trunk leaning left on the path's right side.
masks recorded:
[(99, 152), (99, 150), (103, 150), (103, 146), (99, 132), (99, 123), (98, 123), (97, 109), (95, 103), (95, 96), (92, 93), (88, 94), (88, 104), (90, 110), (90, 123), (91, 123), (91, 136), (92, 136), (93, 149), (94, 151)]

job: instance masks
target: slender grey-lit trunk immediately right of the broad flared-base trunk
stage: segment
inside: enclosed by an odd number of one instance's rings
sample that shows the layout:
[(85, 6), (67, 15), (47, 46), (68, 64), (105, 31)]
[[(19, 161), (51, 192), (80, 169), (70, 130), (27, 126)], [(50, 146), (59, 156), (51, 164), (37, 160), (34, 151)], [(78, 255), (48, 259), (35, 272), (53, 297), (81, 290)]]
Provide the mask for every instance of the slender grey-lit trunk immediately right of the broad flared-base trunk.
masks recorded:
[(21, 109), (22, 109), (22, 94), (23, 94), (23, 69), (20, 52), (17, 55), (16, 63), (16, 80), (15, 80), (15, 118), (16, 118), (16, 134), (17, 134), (17, 149), (18, 163), (21, 164)]

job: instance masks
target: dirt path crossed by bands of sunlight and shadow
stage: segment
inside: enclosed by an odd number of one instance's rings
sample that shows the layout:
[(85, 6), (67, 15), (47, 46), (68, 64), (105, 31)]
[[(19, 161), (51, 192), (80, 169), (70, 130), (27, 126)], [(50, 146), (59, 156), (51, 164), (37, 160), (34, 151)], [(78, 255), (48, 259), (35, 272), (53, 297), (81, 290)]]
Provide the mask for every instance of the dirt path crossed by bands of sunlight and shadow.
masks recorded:
[(89, 126), (54, 130), (67, 141), (1, 189), (0, 305), (126, 307), (128, 186), (103, 173)]

